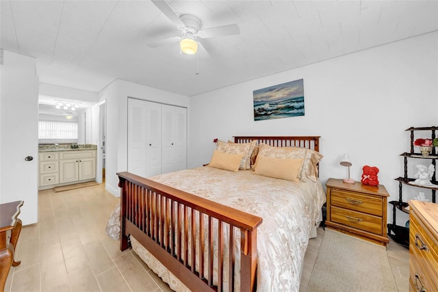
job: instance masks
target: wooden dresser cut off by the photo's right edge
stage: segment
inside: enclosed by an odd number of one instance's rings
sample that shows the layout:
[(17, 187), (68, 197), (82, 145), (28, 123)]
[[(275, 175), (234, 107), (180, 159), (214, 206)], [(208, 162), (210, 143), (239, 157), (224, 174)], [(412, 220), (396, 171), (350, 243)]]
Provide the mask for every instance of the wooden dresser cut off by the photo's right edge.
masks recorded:
[(409, 291), (438, 291), (438, 204), (409, 206)]

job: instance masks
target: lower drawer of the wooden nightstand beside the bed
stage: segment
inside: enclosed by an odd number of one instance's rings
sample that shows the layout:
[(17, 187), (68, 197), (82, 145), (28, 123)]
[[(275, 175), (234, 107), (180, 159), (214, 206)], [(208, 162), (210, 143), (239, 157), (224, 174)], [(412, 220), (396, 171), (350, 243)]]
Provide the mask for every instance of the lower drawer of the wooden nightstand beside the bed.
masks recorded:
[(348, 209), (331, 207), (330, 221), (382, 235), (382, 218)]

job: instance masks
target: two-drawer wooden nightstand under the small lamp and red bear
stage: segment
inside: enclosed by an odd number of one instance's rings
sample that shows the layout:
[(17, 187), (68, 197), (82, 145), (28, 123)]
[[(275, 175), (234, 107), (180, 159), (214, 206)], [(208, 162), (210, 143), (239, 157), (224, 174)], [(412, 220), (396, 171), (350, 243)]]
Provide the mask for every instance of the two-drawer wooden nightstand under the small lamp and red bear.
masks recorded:
[(327, 187), (327, 228), (387, 245), (387, 197), (383, 185), (344, 183), (329, 178)]

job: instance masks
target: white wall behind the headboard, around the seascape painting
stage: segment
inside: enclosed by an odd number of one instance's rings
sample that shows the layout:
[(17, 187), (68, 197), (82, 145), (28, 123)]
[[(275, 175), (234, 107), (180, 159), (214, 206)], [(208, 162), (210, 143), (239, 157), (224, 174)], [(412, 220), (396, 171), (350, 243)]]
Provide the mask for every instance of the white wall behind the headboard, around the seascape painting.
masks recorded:
[[(409, 127), (438, 126), (438, 32), (352, 53), (190, 98), (189, 167), (208, 163), (216, 144), (233, 135), (320, 135), (320, 179), (346, 177), (339, 165), (352, 160), (351, 176), (377, 166), (378, 178), (398, 199)], [(254, 121), (253, 90), (304, 79), (305, 116)], [(420, 137), (420, 136), (419, 136)], [(430, 137), (430, 133), (424, 133)], [(409, 160), (415, 165), (430, 161)], [(419, 189), (404, 187), (404, 198)], [(430, 196), (430, 191), (428, 191)], [(388, 207), (388, 222), (392, 209)], [(398, 224), (408, 216), (398, 212)]]

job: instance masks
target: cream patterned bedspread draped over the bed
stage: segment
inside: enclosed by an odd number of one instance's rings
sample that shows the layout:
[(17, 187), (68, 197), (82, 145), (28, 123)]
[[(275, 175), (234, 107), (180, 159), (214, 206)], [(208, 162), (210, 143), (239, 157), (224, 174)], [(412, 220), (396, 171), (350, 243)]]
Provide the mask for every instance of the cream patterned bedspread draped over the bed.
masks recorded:
[(326, 201), (320, 181), (283, 181), (250, 170), (209, 167), (151, 179), (262, 217), (257, 228), (257, 291), (299, 291), (307, 243), (315, 236)]

